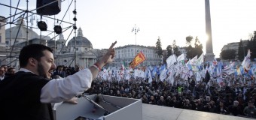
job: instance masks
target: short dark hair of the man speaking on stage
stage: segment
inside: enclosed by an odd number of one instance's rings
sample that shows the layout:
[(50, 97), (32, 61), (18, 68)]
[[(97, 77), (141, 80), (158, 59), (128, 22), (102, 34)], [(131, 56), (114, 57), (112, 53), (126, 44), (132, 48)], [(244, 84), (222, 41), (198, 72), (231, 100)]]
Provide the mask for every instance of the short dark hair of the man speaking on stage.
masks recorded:
[(29, 44), (28, 46), (23, 46), (19, 55), (20, 67), (26, 67), (29, 62), (29, 58), (35, 58), (40, 62), (40, 58), (44, 56), (44, 50), (53, 52), (53, 49), (42, 44)]

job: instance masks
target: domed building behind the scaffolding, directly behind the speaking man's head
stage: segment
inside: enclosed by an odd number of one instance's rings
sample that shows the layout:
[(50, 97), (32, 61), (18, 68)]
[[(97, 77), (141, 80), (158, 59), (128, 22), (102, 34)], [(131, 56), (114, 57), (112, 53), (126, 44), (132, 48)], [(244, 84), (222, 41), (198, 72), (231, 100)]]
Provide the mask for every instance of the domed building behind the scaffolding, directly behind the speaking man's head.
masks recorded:
[[(40, 43), (46, 45), (47, 39), (50, 37), (44, 38), (32, 30), (32, 28), (27, 28), (23, 18), (17, 20), (16, 26), (5, 29), (5, 51), (6, 57), (1, 59), (1, 65), (9, 65), (14, 68), (19, 68), (18, 56), (20, 54), (20, 49), (23, 46), (32, 43)], [(11, 47), (10, 47), (11, 46)], [(9, 57), (11, 54), (11, 58)]]

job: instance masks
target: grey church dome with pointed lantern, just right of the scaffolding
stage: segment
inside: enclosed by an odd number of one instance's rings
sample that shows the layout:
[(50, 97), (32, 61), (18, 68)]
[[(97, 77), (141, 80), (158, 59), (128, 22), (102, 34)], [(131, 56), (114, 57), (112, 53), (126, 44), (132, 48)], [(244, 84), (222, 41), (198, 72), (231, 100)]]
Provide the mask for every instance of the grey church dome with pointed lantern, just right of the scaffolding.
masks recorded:
[(68, 46), (75, 46), (75, 40), (76, 40), (76, 46), (89, 46), (93, 47), (93, 44), (88, 40), (86, 37), (83, 36), (83, 31), (81, 28), (78, 28), (78, 36), (72, 38), (69, 40)]

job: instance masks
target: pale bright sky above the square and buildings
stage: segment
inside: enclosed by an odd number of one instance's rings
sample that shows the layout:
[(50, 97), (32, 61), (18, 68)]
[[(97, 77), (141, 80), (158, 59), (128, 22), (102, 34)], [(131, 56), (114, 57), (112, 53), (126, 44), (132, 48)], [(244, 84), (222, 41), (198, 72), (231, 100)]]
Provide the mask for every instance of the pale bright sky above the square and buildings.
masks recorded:
[[(16, 7), (17, 1), (13, 0), (11, 6)], [(204, 0), (76, 0), (76, 4), (75, 0), (71, 1), (62, 1), (61, 12), (55, 15), (55, 18), (62, 20), (67, 11), (64, 20), (74, 23), (72, 19), (75, 16), (72, 11), (76, 7), (76, 25), (82, 28), (84, 37), (90, 40), (94, 49), (108, 48), (115, 40), (116, 46), (156, 46), (158, 37), (162, 49), (166, 49), (168, 45), (172, 45), (173, 40), (176, 40), (178, 46), (186, 46), (185, 38), (192, 36), (199, 38), (203, 44), (203, 52), (206, 53)], [(0, 3), (10, 5), (10, 1), (7, 0), (0, 0)], [(72, 5), (69, 7), (70, 3)], [(248, 40), (256, 31), (255, 5), (255, 0), (210, 0), (212, 46), (216, 58), (225, 44)], [(3, 5), (0, 7), (0, 16), (9, 17), (10, 8)], [(29, 10), (34, 10), (35, 7), (36, 1), (29, 1)], [(26, 1), (20, 1), (19, 8), (25, 10)], [(12, 9), (11, 14), (14, 12), (15, 9)], [(39, 19), (40, 17), (35, 15), (33, 25), (29, 23), (29, 26), (37, 27), (36, 22)], [(45, 17), (43, 20), (47, 22), (49, 30), (53, 30), (53, 26), (59, 24), (56, 20)], [(66, 28), (70, 24), (62, 23), (61, 26)], [(139, 28), (136, 34), (132, 32), (135, 27)], [(40, 34), (39, 30), (33, 30)], [(50, 33), (41, 32), (43, 35)], [(69, 40), (75, 36), (71, 33), (71, 28), (63, 34), (66, 39), (71, 34)], [(54, 34), (49, 36), (53, 37)]]

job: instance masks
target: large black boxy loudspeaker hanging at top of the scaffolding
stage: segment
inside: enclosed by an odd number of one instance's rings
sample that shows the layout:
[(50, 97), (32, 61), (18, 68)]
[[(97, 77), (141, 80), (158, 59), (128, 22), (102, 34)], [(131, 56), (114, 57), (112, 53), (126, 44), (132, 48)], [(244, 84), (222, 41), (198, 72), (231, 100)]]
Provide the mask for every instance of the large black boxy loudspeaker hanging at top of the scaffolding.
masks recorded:
[[(53, 2), (55, 1), (55, 2)], [(50, 4), (53, 2), (52, 4)], [(50, 4), (50, 5), (47, 5)], [(45, 7), (42, 7), (46, 5)], [(61, 1), (60, 0), (37, 0), (36, 8), (41, 7), (36, 10), (36, 13), (40, 15), (55, 15), (58, 14), (61, 10)]]

